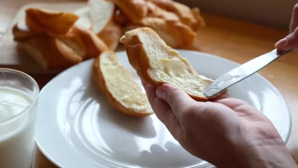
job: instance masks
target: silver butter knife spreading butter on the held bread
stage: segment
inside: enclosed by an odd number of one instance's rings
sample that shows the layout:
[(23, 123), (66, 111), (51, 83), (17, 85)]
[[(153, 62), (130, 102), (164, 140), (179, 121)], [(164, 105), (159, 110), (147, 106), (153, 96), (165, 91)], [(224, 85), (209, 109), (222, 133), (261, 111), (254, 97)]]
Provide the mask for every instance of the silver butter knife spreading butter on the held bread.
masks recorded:
[(258, 72), (275, 59), (289, 53), (288, 51), (278, 51), (277, 49), (266, 53), (262, 56), (258, 56), (250, 61), (240, 65), (239, 67), (227, 72), (223, 76), (216, 79), (211, 85), (209, 85), (204, 91), (204, 96), (207, 98), (213, 97), (214, 95), (219, 94), (224, 89), (230, 87), (233, 84), (236, 84), (250, 75)]

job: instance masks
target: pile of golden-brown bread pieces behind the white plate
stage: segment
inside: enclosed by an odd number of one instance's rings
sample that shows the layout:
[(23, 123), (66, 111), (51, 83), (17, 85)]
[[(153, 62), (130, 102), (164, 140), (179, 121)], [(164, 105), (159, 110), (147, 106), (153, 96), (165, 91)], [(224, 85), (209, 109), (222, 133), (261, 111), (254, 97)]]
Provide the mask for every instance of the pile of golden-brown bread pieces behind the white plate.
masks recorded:
[(74, 13), (28, 8), (13, 27), (15, 41), (44, 70), (63, 70), (103, 51), (115, 51), (125, 31), (149, 27), (173, 48), (193, 44), (204, 26), (198, 8), (173, 0), (89, 0), (91, 26)]

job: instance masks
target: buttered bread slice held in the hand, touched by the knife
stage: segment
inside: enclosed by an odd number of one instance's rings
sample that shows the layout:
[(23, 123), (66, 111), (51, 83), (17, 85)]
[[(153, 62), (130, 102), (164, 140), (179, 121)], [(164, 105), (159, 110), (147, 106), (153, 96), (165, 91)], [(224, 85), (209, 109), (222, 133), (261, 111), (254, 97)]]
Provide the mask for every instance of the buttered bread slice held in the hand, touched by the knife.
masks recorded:
[(120, 39), (130, 64), (145, 82), (164, 83), (181, 87), (195, 100), (207, 100), (204, 90), (213, 81), (199, 75), (187, 59), (166, 43), (151, 28), (137, 28), (125, 32)]

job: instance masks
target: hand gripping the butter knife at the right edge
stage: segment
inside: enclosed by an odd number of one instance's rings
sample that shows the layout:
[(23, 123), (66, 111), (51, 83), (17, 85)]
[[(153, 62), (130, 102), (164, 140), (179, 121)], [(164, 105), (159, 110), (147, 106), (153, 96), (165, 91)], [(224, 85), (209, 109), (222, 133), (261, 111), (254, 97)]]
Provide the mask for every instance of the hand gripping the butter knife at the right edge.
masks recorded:
[(275, 43), (278, 50), (293, 50), (298, 54), (298, 3), (294, 6), (290, 24), (290, 34)]

